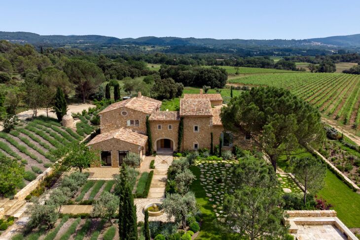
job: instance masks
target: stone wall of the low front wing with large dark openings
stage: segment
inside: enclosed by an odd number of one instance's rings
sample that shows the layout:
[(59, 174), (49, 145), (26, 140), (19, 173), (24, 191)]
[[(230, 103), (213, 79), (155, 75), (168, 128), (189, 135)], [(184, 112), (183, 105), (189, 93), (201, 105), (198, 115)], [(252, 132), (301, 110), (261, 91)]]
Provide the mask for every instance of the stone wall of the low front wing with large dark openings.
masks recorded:
[[(146, 145), (146, 143), (145, 143)], [(145, 154), (145, 145), (139, 146), (133, 143), (121, 141), (119, 139), (111, 138), (106, 141), (95, 143), (91, 145), (91, 148), (99, 151), (109, 151), (111, 152), (111, 166), (119, 167), (119, 154), (118, 151), (130, 151), (132, 153), (140, 154), (140, 157), (143, 158)], [(100, 167), (101, 163), (93, 163), (91, 167)]]

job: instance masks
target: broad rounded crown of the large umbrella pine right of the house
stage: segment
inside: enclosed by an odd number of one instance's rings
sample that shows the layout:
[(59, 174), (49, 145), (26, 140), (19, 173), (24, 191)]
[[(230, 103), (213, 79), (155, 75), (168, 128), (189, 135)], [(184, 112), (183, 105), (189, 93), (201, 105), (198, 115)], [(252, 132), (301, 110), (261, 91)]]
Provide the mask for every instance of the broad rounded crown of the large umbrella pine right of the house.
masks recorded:
[(285, 151), (300, 146), (319, 146), (324, 139), (320, 113), (288, 90), (253, 87), (230, 100), (222, 108), (224, 128), (251, 136), (276, 169), (276, 161)]

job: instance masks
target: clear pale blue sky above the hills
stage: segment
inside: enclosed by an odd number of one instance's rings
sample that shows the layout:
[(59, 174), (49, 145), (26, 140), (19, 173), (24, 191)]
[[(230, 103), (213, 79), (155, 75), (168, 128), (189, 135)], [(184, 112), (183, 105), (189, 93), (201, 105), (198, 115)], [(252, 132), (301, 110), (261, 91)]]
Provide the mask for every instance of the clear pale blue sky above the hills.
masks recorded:
[(360, 0), (0, 0), (0, 31), (117, 38), (307, 39), (360, 33)]

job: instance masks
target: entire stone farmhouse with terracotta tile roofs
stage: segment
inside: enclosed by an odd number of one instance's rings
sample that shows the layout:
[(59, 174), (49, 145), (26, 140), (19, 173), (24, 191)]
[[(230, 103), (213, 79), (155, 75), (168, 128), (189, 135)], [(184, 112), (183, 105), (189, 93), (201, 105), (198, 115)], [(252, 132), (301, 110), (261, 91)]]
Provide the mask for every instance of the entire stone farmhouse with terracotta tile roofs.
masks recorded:
[(220, 119), (220, 94), (184, 94), (180, 111), (160, 111), (161, 101), (142, 96), (116, 102), (99, 113), (101, 133), (88, 146), (99, 150), (103, 166), (118, 167), (128, 152), (141, 157), (147, 150), (146, 116), (157, 153), (178, 151), (178, 130), (183, 121), (181, 149), (210, 149), (211, 132), (214, 146), (223, 139), (223, 147), (232, 147), (229, 133), (224, 132)]

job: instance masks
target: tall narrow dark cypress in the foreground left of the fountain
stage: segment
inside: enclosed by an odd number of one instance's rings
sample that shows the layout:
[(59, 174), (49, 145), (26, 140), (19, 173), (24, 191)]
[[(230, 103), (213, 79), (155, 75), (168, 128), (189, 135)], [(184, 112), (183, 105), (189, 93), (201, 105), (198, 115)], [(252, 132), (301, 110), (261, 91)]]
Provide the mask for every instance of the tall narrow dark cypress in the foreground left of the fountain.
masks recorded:
[(138, 227), (136, 218), (136, 206), (127, 180), (125, 166), (120, 170), (122, 184), (119, 186), (119, 239), (138, 240)]

